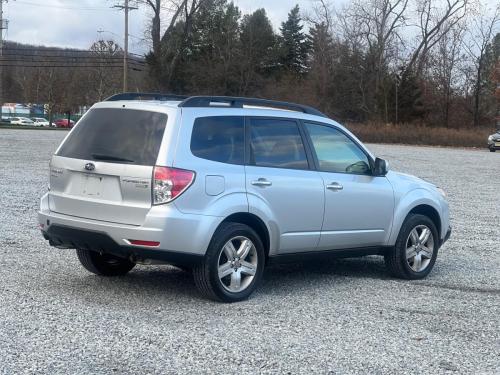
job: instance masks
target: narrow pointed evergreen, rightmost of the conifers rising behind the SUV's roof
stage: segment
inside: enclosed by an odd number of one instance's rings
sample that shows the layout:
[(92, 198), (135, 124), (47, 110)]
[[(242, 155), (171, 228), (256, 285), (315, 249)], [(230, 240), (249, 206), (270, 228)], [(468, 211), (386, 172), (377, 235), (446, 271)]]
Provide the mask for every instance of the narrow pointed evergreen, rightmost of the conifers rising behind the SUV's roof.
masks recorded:
[(296, 5), (288, 19), (281, 24), (281, 62), (285, 69), (295, 73), (307, 72), (307, 56), (310, 50), (309, 40), (303, 29), (299, 6)]

